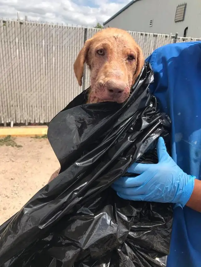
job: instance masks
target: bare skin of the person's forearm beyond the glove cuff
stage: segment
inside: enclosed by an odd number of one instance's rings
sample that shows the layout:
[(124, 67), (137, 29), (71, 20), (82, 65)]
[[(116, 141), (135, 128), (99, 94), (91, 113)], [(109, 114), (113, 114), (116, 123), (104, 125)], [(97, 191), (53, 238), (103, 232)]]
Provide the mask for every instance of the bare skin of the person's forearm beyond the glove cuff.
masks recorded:
[(186, 206), (201, 212), (201, 181), (198, 179), (195, 179), (193, 193), (186, 203)]

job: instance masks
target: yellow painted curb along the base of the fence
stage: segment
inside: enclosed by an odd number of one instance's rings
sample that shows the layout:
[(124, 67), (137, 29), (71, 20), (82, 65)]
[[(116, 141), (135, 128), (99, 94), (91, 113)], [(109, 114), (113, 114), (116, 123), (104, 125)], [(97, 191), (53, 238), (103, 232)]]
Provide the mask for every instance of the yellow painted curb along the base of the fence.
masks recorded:
[(47, 127), (13, 127), (0, 128), (0, 136), (43, 136), (47, 134)]

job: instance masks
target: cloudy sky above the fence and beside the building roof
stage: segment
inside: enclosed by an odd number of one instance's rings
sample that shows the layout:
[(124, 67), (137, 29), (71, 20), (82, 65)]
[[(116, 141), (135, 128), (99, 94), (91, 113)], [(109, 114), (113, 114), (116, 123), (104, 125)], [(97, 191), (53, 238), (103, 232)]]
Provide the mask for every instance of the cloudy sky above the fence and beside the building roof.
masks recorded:
[(131, 0), (0, 0), (0, 18), (83, 26), (102, 24)]

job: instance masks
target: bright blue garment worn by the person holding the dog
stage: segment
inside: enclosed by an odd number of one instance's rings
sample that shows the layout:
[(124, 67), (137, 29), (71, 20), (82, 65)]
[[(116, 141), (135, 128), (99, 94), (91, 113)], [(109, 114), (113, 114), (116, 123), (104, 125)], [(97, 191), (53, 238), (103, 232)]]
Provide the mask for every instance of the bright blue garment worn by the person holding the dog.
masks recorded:
[[(201, 179), (201, 42), (165, 45), (147, 61), (155, 74), (150, 89), (172, 120), (172, 157)], [(201, 213), (177, 207), (167, 267), (200, 266)]]

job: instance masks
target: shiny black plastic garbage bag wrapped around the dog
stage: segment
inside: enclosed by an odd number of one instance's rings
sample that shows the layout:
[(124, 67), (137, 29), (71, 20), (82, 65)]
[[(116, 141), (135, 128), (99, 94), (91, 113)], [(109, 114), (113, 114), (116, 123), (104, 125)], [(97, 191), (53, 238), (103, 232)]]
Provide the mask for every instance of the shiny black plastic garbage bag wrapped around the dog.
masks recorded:
[(1, 267), (166, 265), (171, 204), (123, 200), (110, 187), (133, 162), (157, 163), (159, 136), (169, 143), (152, 81), (145, 63), (126, 103), (88, 105), (84, 91), (53, 118), (61, 171), (0, 227)]

